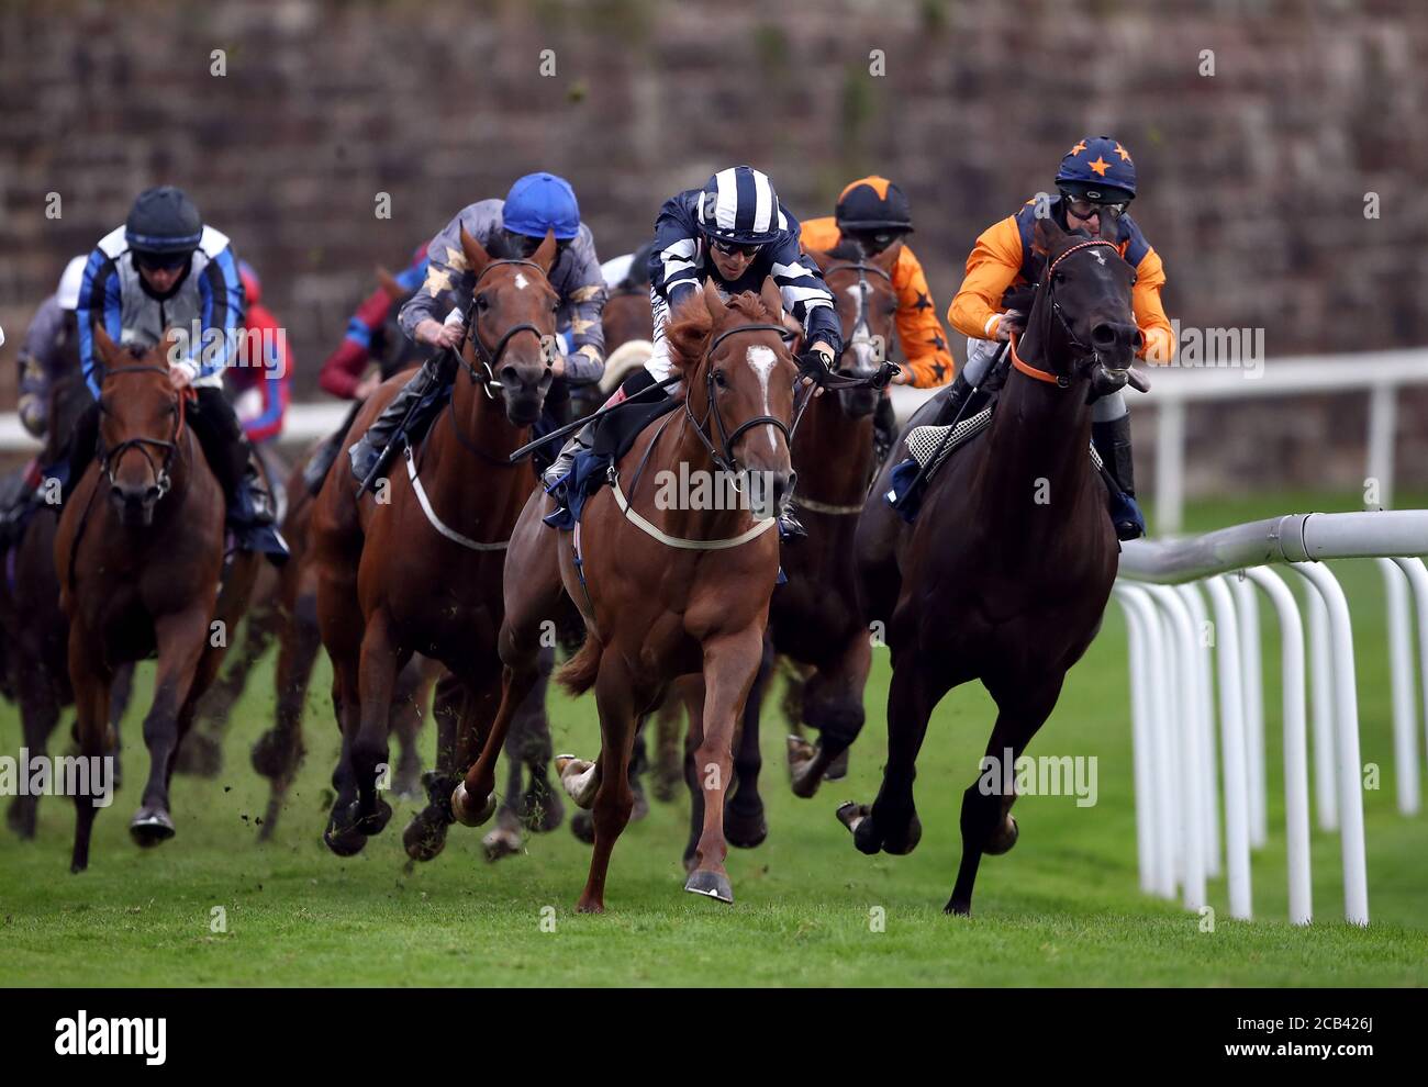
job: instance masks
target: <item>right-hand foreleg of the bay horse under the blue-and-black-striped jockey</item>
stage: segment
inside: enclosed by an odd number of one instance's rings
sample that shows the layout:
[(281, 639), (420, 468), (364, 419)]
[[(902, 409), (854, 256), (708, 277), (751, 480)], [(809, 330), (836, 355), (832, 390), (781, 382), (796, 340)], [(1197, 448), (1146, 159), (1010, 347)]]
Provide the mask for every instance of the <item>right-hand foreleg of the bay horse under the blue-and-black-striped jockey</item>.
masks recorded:
[(139, 812), (129, 823), (130, 836), (144, 847), (157, 846), (174, 836), (174, 823), (169, 815), (169, 780), (178, 753), (178, 710), (193, 690), (198, 662), (208, 652), (208, 636), (206, 609), (190, 608), (154, 621), (159, 670), (154, 676), (154, 702), (144, 716), (149, 782)]

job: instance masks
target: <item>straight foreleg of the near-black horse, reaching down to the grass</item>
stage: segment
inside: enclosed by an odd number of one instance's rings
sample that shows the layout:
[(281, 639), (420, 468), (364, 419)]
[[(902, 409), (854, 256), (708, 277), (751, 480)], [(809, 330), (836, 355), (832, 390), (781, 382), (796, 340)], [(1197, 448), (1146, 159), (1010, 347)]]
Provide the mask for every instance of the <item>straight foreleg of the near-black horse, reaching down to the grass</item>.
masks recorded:
[[(1011, 777), (1011, 769), (1017, 759), (1027, 749), (1031, 738), (1037, 735), (1061, 696), (1061, 683), (1065, 673), (1055, 678), (1055, 682), (1040, 688), (1027, 689), (1030, 685), (1008, 685), (1005, 689), (994, 692), (997, 699), (997, 723), (992, 726), (991, 739), (987, 740), (985, 759), (991, 759), (991, 766), (1001, 767), (995, 775), (998, 782)], [(988, 763), (984, 760), (982, 763)], [(944, 913), (970, 914), (972, 912), (972, 886), (977, 883), (977, 866), (982, 854), (997, 856), (1005, 853), (1017, 844), (1017, 820), (1011, 816), (1011, 805), (1017, 799), (1014, 789), (985, 789), (982, 782), (985, 775), (978, 775), (977, 780), (967, 786), (962, 793), (962, 862), (957, 869), (957, 883), (952, 886), (952, 897), (942, 907)]]

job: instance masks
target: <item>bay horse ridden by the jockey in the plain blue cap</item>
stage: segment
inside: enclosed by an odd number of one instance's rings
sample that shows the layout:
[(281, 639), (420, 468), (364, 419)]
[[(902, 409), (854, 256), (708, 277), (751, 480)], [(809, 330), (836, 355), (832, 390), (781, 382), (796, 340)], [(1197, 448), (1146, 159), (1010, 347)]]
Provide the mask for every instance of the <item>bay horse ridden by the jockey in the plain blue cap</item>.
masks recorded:
[[(547, 349), (558, 297), (545, 274), (555, 257), (547, 234), (530, 260), (493, 258), (461, 233), (476, 287), (450, 409), (431, 425), (406, 471), (376, 495), (354, 498), (338, 464), (313, 511), (317, 616), (333, 659), (333, 703), (343, 753), (324, 840), (356, 853), (391, 817), (378, 797), (387, 763), (388, 708), (397, 675), (413, 653), (441, 660), (460, 683), (458, 715), (437, 715), (437, 772), (470, 765), (496, 709), (500, 660), (501, 566), (511, 528), (536, 484), (510, 454), (528, 438), (554, 378)], [(357, 441), (396, 395), (388, 379), (348, 431)], [(434, 796), (434, 800), (437, 797)], [(494, 799), (493, 799), (494, 809)], [(490, 813), (487, 813), (488, 816)], [(450, 817), (434, 803), (407, 827), (411, 856), (440, 852)]]

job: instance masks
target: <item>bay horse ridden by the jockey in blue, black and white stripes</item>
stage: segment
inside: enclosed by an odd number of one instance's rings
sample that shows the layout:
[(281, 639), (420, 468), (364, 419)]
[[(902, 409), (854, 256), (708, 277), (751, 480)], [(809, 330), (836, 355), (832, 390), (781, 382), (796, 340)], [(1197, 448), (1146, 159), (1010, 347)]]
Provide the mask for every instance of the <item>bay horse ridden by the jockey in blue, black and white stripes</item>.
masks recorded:
[[(159, 655), (144, 718), (149, 783), (130, 823), (134, 840), (153, 846), (174, 835), (174, 755), (223, 660), (227, 638), (217, 635), (236, 629), (247, 605), (258, 556), (234, 552), (224, 566), (223, 491), (169, 379), (173, 332), (141, 351), (96, 327), (94, 345), (104, 367), (99, 458), (64, 505), (54, 565), (81, 756), (106, 749), (116, 666)], [(71, 870), (83, 872), (96, 805), (79, 792), (74, 805)]]

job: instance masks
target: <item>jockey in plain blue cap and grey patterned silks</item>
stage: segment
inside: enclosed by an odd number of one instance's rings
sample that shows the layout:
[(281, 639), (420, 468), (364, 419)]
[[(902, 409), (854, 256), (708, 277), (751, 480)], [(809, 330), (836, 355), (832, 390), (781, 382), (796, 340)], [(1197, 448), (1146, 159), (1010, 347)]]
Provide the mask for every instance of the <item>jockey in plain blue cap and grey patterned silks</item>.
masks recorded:
[[(558, 412), (570, 401), (570, 385), (600, 381), (605, 369), (604, 335), (600, 311), (605, 305), (605, 284), (600, 277), (595, 240), (580, 221), (580, 204), (570, 183), (554, 174), (527, 174), (511, 185), (506, 200), (481, 200), (456, 214), (427, 247), (430, 264), (421, 288), (407, 300), (397, 315), (401, 331), (418, 344), (436, 348), (461, 348), (461, 324), (453, 318), (471, 305), (476, 272), (466, 267), (461, 251), (461, 227), (493, 257), (528, 258), (555, 234), (555, 261), (550, 285), (560, 295), (555, 327), (565, 332), (568, 348), (555, 361), (555, 382), (545, 404)], [(413, 419), (410, 434), (417, 434), (446, 407), (438, 394), (456, 377), (456, 361), (448, 351), (427, 359), (411, 375), (391, 404), (378, 415), (361, 439), (348, 451), (353, 475), (364, 481), (381, 451), (396, 437), (407, 409), (414, 402), (430, 401), (424, 418)]]

